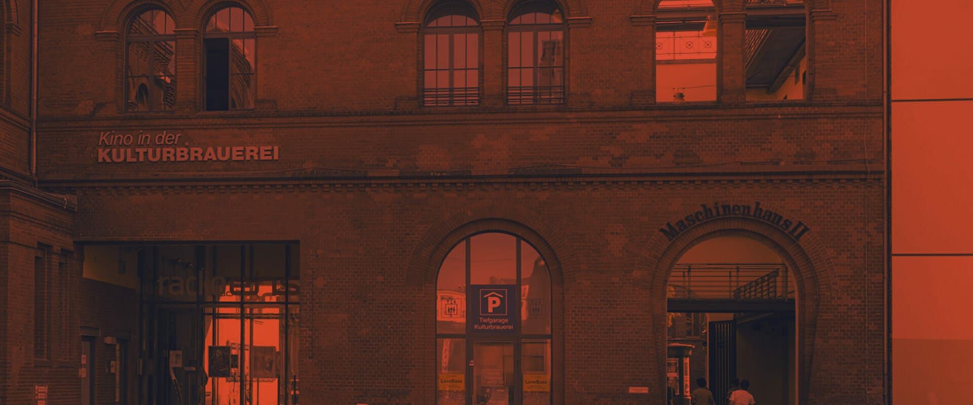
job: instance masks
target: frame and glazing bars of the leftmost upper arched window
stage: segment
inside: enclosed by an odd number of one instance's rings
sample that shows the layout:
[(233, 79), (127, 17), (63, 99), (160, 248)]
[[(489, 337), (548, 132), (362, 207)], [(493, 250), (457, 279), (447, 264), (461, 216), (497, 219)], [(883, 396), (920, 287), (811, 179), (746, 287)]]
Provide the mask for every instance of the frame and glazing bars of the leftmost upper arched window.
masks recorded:
[[(140, 19), (143, 16), (145, 16), (147, 13), (152, 13), (152, 12), (160, 12), (160, 13), (164, 14), (165, 17), (167, 17), (167, 21), (171, 21), (172, 22), (173, 32), (171, 34), (169, 34), (169, 33), (162, 33), (162, 34), (152, 34), (152, 35), (145, 35), (145, 34), (134, 34), (134, 35), (132, 35), (132, 34), (129, 33), (131, 31), (132, 24), (134, 24), (137, 19)], [(179, 80), (178, 80), (178, 78), (179, 78), (179, 76), (178, 76), (178, 70), (179, 70), (178, 53), (176, 51), (178, 48), (176, 47), (175, 28), (176, 28), (175, 18), (172, 17), (172, 14), (169, 13), (167, 10), (164, 10), (162, 8), (159, 8), (159, 7), (153, 7), (153, 8), (148, 8), (148, 9), (141, 9), (138, 13), (133, 14), (132, 17), (130, 17), (130, 18), (127, 19), (127, 23), (126, 23), (126, 26), (125, 26), (125, 41), (124, 41), (124, 44), (125, 44), (124, 45), (124, 47), (125, 47), (125, 59), (124, 59), (124, 65), (123, 65), (124, 66), (124, 69), (123, 69), (123, 72), (122, 72), (123, 80), (125, 81), (125, 90), (124, 90), (124, 92), (125, 92), (125, 94), (124, 94), (125, 101), (123, 102), (123, 111), (125, 113), (171, 113), (171, 112), (173, 112), (175, 110), (175, 106), (176, 106), (176, 104), (178, 102), (178, 92), (177, 91), (178, 91), (178, 86), (179, 86)], [(146, 110), (138, 110), (138, 109), (131, 109), (131, 108), (129, 108), (129, 103), (132, 102), (132, 100), (134, 99), (134, 96), (138, 93), (138, 86), (135, 86), (133, 88), (132, 85), (131, 85), (132, 84), (132, 80), (133, 79), (136, 79), (136, 78), (145, 78), (145, 79), (148, 79), (149, 81), (152, 81), (153, 79), (155, 79), (157, 77), (160, 77), (158, 75), (151, 75), (151, 74), (150, 75), (139, 75), (139, 76), (129, 75), (129, 73), (128, 73), (128, 66), (130, 64), (129, 58), (131, 57), (131, 44), (133, 44), (133, 43), (148, 43), (148, 51), (152, 52), (152, 55), (153, 55), (152, 59), (149, 60), (148, 63), (149, 63), (150, 66), (154, 66), (155, 65), (155, 62), (156, 62), (155, 61), (156, 44), (157, 43), (165, 43), (165, 42), (171, 42), (172, 43), (172, 60), (173, 60), (173, 63), (172, 64), (173, 64), (173, 72), (171, 74), (171, 77), (172, 77), (172, 83), (175, 83), (175, 84), (172, 87), (173, 101), (172, 101), (171, 108), (168, 108), (168, 109), (162, 108), (162, 109), (155, 109), (155, 110), (154, 109), (149, 109), (148, 108), (148, 105), (149, 105), (148, 102), (146, 103), (146, 106), (147, 106), (147, 109)], [(150, 86), (146, 86), (145, 88), (146, 88), (146, 95), (147, 95), (146, 99), (147, 100), (152, 100), (153, 99), (153, 97), (152, 97), (152, 95), (153, 95), (153, 89)], [(164, 101), (162, 102), (162, 105), (164, 105)]]

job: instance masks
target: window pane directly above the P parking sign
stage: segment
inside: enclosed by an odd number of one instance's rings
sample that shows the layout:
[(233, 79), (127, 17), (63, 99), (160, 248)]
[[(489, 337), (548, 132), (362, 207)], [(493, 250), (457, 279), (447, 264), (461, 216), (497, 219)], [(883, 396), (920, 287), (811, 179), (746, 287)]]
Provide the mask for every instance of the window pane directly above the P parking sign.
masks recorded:
[(497, 232), (470, 238), (470, 284), (517, 284), (517, 238)]

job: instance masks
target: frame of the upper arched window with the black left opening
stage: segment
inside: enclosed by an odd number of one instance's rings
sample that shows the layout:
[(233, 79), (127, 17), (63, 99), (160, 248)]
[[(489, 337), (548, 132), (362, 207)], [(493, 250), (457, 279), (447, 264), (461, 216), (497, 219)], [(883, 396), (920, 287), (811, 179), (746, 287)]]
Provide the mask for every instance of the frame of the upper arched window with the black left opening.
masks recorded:
[[(209, 27), (209, 21), (211, 21), (214, 18), (216, 18), (216, 15), (219, 14), (220, 12), (222, 12), (222, 11), (224, 11), (224, 10), (233, 10), (233, 9), (239, 9), (239, 10), (241, 10), (243, 12), (244, 18), (249, 18), (250, 19), (250, 25), (251, 26), (250, 26), (250, 30), (249, 31), (228, 31), (228, 32), (213, 32), (213, 31), (209, 31), (209, 29), (208, 29), (208, 27)], [(244, 21), (245, 21), (245, 19), (244, 19)], [(202, 34), (200, 35), (201, 44), (200, 44), (200, 47), (199, 47), (199, 51), (201, 51), (201, 54), (202, 55), (201, 55), (200, 60), (199, 60), (199, 62), (200, 62), (199, 63), (200, 69), (199, 69), (199, 73), (198, 73), (199, 82), (201, 84), (199, 86), (199, 88), (201, 90), (201, 91), (199, 91), (199, 94), (201, 96), (201, 100), (200, 100), (200, 107), (201, 108), (200, 108), (200, 110), (203, 111), (203, 112), (234, 112), (234, 111), (253, 111), (253, 110), (255, 110), (256, 107), (257, 107), (257, 65), (258, 65), (258, 63), (257, 63), (257, 57), (258, 57), (258, 53), (259, 52), (257, 51), (257, 30), (256, 30), (257, 21), (254, 19), (253, 13), (251, 13), (250, 10), (248, 10), (246, 7), (243, 7), (242, 5), (237, 4), (237, 3), (224, 4), (224, 5), (221, 5), (221, 7), (218, 7), (216, 9), (213, 9), (212, 11), (210, 11), (209, 14), (207, 15), (207, 17), (203, 19), (202, 24), (203, 24), (202, 25), (202, 29), (201, 29), (201, 33)], [(208, 108), (207, 102), (206, 102), (207, 91), (208, 91), (207, 90), (207, 86), (208, 86), (208, 84), (207, 84), (207, 74), (206, 74), (208, 67), (206, 65), (206, 59), (207, 59), (207, 57), (209, 55), (207, 53), (207, 51), (206, 51), (206, 40), (209, 40), (209, 39), (226, 39), (229, 42), (229, 44), (230, 44), (230, 47), (228, 47), (228, 50), (232, 50), (234, 40), (242, 40), (242, 41), (253, 40), (253, 65), (251, 66), (251, 73), (249, 73), (249, 74), (246, 74), (246, 73), (233, 73), (233, 60), (232, 60), (232, 58), (229, 55), (227, 57), (227, 59), (228, 59), (228, 63), (227, 63), (227, 69), (228, 69), (228, 71), (227, 71), (228, 84), (227, 84), (227, 108), (226, 109), (210, 110)], [(244, 76), (244, 75), (250, 76), (249, 93), (250, 93), (251, 105), (249, 107), (247, 107), (247, 108), (233, 108), (233, 107), (231, 107), (231, 100), (233, 98), (232, 96), (233, 96), (233, 93), (234, 93), (234, 86), (233, 86), (233, 82), (234, 81), (233, 81), (233, 78), (234, 78), (234, 76)]]

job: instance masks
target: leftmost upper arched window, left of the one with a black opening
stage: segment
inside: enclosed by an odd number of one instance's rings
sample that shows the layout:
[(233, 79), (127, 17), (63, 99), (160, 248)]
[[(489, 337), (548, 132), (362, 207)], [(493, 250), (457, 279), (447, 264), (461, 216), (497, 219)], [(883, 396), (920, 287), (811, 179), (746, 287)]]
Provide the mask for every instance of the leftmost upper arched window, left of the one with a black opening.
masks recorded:
[(126, 111), (169, 111), (176, 101), (175, 21), (162, 10), (131, 19), (126, 31)]

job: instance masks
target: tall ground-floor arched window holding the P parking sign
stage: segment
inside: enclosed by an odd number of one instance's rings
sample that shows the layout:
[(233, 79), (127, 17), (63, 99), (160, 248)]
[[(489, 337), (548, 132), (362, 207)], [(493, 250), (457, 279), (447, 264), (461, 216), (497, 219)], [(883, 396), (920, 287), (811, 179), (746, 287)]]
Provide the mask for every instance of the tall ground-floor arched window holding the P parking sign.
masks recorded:
[(551, 275), (540, 253), (506, 233), (464, 238), (443, 260), (436, 301), (437, 404), (551, 404)]

